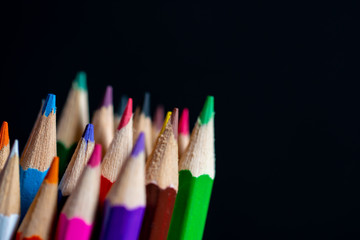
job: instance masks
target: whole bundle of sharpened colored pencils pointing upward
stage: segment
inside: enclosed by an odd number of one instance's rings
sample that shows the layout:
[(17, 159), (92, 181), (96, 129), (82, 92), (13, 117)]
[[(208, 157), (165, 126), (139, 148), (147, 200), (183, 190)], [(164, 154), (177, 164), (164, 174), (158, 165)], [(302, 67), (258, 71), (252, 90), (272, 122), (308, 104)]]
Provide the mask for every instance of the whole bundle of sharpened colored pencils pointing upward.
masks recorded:
[(58, 125), (49, 94), (21, 155), (2, 123), (1, 240), (202, 239), (215, 177), (214, 98), (192, 131), (187, 108), (164, 117), (158, 105), (152, 120), (149, 93), (135, 113), (132, 98), (123, 95), (116, 113), (112, 99), (108, 86), (89, 123), (79, 72)]

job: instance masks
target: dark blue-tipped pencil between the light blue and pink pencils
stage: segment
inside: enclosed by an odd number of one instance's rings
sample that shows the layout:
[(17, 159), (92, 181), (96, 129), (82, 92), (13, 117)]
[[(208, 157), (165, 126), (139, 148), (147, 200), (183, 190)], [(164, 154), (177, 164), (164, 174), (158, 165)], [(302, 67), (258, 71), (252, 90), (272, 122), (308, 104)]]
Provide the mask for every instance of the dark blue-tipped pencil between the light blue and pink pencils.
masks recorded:
[(74, 191), (82, 171), (94, 150), (94, 126), (88, 124), (81, 136), (75, 152), (59, 184), (59, 209), (64, 206), (67, 197)]

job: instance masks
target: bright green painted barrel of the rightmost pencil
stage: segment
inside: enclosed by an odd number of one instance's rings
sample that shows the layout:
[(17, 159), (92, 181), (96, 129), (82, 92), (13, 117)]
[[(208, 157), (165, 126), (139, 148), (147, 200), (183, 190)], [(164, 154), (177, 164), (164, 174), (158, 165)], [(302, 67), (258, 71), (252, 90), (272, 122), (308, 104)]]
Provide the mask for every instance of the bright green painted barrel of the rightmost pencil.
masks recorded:
[(168, 240), (202, 239), (213, 182), (209, 175), (193, 177), (188, 170), (179, 172), (179, 190)]

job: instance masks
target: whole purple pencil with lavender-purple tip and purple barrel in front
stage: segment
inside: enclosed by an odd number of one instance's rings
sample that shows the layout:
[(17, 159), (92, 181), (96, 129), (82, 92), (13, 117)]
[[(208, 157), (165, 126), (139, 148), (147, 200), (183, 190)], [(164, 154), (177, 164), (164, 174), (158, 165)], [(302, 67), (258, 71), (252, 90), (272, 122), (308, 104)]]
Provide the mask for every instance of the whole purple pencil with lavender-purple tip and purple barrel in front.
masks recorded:
[(137, 240), (145, 204), (145, 137), (140, 133), (130, 158), (106, 197), (100, 239)]

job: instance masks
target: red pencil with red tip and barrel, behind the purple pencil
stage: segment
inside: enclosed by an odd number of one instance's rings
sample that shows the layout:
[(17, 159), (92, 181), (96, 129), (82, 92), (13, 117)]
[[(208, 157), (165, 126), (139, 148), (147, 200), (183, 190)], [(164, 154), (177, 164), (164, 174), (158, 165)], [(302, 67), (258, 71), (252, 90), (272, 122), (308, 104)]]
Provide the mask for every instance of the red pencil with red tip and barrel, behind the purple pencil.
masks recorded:
[(120, 169), (128, 159), (133, 147), (133, 101), (129, 98), (115, 137), (101, 163), (100, 204), (105, 200), (110, 187), (119, 176)]

